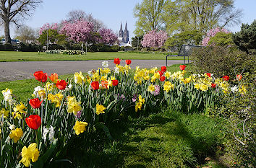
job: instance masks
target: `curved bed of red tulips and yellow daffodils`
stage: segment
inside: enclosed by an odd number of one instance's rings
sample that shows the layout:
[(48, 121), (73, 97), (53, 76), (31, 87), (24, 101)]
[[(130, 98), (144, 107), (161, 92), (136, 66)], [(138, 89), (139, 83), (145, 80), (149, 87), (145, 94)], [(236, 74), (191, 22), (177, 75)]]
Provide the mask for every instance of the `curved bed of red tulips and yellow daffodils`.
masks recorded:
[[(130, 73), (127, 60), (116, 68), (103, 68), (74, 73), (69, 81), (57, 74), (35, 72), (41, 86), (35, 88), (33, 99), (19, 102), (11, 89), (2, 91), (0, 118), (1, 167), (46, 167), (56, 162), (76, 138), (94, 141), (97, 133), (113, 139), (109, 127), (128, 116), (142, 116), (157, 109), (179, 112), (203, 112), (218, 104), (219, 97), (229, 93), (229, 76), (214, 78), (213, 74), (186, 77), (186, 66), (174, 74), (166, 67), (136, 68)], [(242, 77), (242, 76), (241, 76)], [(48, 80), (50, 79), (50, 80)], [(51, 82), (49, 82), (51, 81)], [(239, 92), (246, 92), (244, 86)]]

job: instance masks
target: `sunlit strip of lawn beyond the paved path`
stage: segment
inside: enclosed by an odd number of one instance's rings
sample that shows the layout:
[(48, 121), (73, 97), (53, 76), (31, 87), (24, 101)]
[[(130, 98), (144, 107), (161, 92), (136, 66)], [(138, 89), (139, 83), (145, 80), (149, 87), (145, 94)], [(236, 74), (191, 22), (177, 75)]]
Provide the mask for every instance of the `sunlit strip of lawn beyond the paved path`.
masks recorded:
[[(87, 55), (72, 56), (72, 55), (46, 54), (46, 53), (38, 54), (37, 52), (0, 51), (0, 62), (110, 60), (114, 58), (163, 60), (163, 59), (166, 59), (166, 55), (162, 53), (99, 52), (99, 53), (88, 53)], [(183, 57), (168, 57), (168, 59), (182, 60)]]

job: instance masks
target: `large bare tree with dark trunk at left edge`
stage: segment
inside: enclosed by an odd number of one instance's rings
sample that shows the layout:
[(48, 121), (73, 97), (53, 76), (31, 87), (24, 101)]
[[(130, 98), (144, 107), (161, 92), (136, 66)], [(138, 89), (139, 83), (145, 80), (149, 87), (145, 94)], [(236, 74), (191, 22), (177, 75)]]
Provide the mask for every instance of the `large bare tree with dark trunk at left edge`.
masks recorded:
[(41, 2), (42, 0), (0, 0), (0, 18), (1, 24), (4, 25), (6, 43), (11, 44), (10, 23), (12, 22), (19, 27), (19, 20), (30, 17), (33, 10)]

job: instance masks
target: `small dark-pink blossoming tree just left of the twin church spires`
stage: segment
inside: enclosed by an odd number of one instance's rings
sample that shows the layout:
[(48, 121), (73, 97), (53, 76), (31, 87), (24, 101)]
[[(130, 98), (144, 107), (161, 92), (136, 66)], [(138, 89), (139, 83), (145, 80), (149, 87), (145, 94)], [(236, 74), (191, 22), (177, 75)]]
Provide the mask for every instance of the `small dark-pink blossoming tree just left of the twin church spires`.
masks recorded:
[(101, 28), (98, 33), (101, 35), (100, 38), (98, 38), (98, 42), (99, 43), (104, 43), (106, 45), (114, 45), (114, 43), (117, 40), (117, 36), (115, 35), (115, 33), (110, 30), (110, 29), (106, 29), (106, 28)]

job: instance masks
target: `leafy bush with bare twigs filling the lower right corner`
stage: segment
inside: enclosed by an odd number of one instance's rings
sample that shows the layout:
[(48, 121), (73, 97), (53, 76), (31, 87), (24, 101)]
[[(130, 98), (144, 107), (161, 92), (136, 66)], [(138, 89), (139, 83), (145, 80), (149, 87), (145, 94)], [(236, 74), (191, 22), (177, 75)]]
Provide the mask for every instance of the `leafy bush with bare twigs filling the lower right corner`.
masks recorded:
[[(224, 118), (226, 121), (224, 124), (228, 129), (223, 131), (226, 136), (225, 151), (233, 160), (229, 164), (236, 164), (236, 167), (256, 167), (255, 77), (255, 73), (244, 75), (237, 89), (220, 97), (221, 105), (212, 110), (215, 118)], [(242, 86), (246, 90), (240, 94)]]

